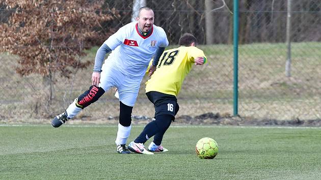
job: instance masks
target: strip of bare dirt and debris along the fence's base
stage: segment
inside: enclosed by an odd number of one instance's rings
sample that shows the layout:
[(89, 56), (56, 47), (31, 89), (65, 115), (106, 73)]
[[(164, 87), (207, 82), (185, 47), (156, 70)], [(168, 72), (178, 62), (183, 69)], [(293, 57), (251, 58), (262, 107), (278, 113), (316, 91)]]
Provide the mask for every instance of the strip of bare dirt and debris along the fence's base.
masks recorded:
[[(92, 125), (117, 125), (118, 116), (109, 116), (96, 119), (91, 116), (81, 116), (68, 121), (70, 125), (92, 124)], [(133, 115), (132, 124), (146, 125), (152, 121), (152, 117)], [(51, 119), (10, 119), (1, 120), (0, 124), (50, 124)], [(299, 118), (289, 120), (278, 119), (256, 119), (251, 117), (232, 116), (230, 114), (204, 113), (197, 116), (180, 115), (175, 118), (173, 125), (218, 125), (218, 126), (295, 126), (295, 127), (321, 127), (321, 119), (301, 120)]]

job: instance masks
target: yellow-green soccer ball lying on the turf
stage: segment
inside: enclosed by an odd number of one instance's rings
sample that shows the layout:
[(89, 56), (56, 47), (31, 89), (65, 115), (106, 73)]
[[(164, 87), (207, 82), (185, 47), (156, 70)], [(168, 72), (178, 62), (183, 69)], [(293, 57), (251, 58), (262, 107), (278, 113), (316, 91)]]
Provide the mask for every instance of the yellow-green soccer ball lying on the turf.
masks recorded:
[(195, 151), (201, 159), (213, 159), (219, 153), (219, 146), (214, 139), (204, 137), (196, 143)]

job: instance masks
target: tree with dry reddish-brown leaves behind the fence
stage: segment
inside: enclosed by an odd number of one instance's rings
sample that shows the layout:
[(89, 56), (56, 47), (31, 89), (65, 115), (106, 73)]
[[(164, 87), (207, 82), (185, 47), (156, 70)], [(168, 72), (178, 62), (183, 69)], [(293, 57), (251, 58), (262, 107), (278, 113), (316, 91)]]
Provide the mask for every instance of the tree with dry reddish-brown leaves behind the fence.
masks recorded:
[(44, 85), (50, 85), (50, 101), (53, 75), (69, 78), (72, 69), (87, 67), (90, 62), (79, 61), (86, 55), (84, 50), (111, 35), (100, 23), (112, 20), (115, 10), (103, 11), (101, 4), (85, 0), (6, 0), (3, 5), (13, 13), (8, 22), (0, 24), (0, 52), (20, 57), (16, 72), (21, 76), (40, 74)]

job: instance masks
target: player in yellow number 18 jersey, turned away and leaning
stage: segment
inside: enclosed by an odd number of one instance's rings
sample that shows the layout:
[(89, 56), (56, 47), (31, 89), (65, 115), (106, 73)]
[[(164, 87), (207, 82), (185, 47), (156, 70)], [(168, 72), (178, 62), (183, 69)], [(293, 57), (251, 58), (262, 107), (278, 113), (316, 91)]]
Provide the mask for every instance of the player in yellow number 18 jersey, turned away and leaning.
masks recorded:
[[(129, 143), (128, 149), (133, 153), (153, 154), (151, 152), (168, 151), (161, 142), (179, 109), (176, 96), (192, 65), (206, 63), (206, 56), (196, 47), (197, 39), (192, 34), (185, 33), (178, 44), (180, 47), (164, 51), (156, 71), (149, 73), (151, 78), (146, 82), (146, 95), (154, 104), (155, 121), (147, 124), (142, 133)], [(152, 136), (154, 140), (147, 151), (144, 143)]]

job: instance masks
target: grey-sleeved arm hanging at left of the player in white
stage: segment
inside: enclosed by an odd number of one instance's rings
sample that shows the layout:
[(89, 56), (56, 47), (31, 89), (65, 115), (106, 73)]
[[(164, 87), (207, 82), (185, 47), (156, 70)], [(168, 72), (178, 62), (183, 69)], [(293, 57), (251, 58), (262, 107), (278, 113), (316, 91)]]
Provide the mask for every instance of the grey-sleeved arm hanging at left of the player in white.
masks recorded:
[(97, 50), (95, 57), (95, 65), (94, 72), (91, 76), (92, 85), (98, 86), (100, 82), (100, 72), (103, 60), (105, 58), (106, 53), (109, 53), (111, 50), (105, 43), (103, 43), (100, 48)]

